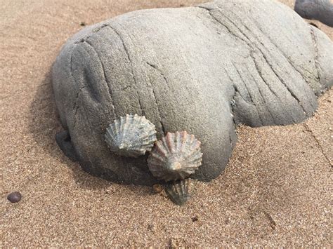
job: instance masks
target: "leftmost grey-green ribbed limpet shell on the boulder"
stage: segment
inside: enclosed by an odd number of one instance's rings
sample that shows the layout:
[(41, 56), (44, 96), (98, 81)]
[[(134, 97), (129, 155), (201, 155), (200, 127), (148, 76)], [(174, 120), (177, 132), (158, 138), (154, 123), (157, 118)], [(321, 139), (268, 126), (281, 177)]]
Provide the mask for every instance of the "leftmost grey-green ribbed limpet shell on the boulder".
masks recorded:
[(155, 126), (145, 116), (126, 114), (107, 128), (105, 142), (119, 156), (138, 157), (150, 152), (156, 138)]

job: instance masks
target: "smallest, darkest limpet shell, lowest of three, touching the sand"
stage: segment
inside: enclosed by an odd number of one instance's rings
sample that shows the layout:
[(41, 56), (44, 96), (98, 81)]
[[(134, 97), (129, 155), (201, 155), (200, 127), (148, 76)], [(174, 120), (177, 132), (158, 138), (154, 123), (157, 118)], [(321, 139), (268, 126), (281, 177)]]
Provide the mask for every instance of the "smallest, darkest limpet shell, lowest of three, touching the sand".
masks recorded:
[(190, 179), (169, 183), (165, 188), (171, 201), (181, 206), (191, 198), (192, 182)]

